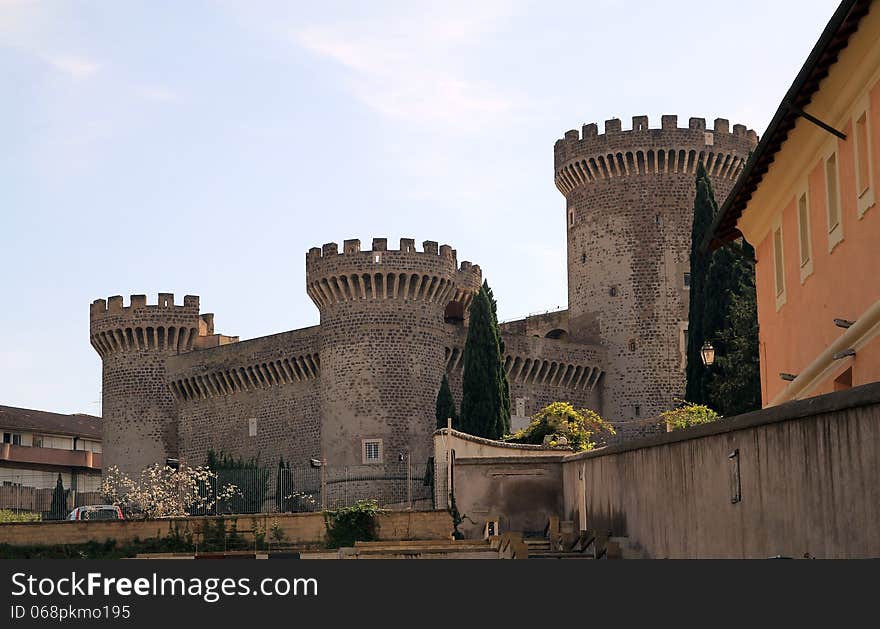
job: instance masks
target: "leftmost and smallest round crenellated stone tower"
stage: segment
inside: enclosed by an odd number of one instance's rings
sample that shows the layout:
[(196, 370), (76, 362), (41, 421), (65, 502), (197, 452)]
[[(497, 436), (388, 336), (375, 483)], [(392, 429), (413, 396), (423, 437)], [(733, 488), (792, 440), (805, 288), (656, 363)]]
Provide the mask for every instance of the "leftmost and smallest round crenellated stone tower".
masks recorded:
[(187, 295), (182, 306), (174, 295), (159, 293), (147, 305), (132, 295), (91, 305), (91, 342), (100, 354), (104, 469), (139, 474), (153, 463), (177, 457), (177, 415), (165, 378), (168, 356), (189, 351), (199, 334), (199, 298)]

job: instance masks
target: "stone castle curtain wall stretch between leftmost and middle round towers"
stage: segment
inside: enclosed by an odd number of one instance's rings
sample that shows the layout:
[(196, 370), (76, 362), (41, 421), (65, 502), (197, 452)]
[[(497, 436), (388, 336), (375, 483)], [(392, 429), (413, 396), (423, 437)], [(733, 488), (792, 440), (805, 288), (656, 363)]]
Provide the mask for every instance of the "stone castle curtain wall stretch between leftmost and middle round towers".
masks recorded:
[(181, 458), (204, 465), (210, 449), (270, 466), (320, 458), (319, 333), (314, 326), (171, 357)]

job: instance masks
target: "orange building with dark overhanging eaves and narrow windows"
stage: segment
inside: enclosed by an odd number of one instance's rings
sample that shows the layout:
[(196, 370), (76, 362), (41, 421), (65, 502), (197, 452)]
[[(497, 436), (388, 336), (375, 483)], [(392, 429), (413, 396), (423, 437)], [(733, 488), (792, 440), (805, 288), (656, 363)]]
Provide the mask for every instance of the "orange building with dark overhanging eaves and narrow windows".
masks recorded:
[(750, 162), (713, 246), (756, 250), (763, 405), (880, 381), (880, 2), (840, 5)]

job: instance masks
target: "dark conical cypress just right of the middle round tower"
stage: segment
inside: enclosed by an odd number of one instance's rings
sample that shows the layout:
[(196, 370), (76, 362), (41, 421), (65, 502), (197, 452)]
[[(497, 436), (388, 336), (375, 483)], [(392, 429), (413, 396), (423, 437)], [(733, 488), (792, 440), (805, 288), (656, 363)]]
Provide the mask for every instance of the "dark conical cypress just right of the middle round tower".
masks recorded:
[(504, 417), (505, 386), (501, 347), (485, 288), (474, 296), (469, 310), (462, 376), (461, 430), (500, 439), (510, 421)]

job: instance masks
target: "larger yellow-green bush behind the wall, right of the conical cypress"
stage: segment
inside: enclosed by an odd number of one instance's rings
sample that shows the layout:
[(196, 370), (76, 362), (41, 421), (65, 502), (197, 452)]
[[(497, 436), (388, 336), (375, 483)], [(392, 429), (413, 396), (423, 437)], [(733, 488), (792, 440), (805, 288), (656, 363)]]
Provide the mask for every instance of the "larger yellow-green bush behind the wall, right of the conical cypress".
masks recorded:
[(614, 426), (598, 413), (576, 410), (568, 402), (548, 404), (532, 417), (531, 423), (508, 441), (547, 445), (564, 444), (575, 451), (592, 450), (614, 435)]

